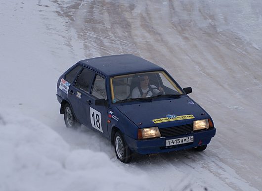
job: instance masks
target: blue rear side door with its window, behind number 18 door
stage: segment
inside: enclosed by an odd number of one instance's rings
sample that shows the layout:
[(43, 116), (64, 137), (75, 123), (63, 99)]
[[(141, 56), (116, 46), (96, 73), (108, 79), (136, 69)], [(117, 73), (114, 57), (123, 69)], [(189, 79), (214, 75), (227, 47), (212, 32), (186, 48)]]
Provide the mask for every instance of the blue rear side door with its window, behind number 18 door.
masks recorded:
[(93, 78), (94, 72), (88, 68), (83, 68), (78, 75), (75, 84), (70, 86), (68, 93), (71, 106), (77, 119), (80, 123), (86, 126), (90, 124), (89, 112), (87, 111), (90, 106), (88, 101)]

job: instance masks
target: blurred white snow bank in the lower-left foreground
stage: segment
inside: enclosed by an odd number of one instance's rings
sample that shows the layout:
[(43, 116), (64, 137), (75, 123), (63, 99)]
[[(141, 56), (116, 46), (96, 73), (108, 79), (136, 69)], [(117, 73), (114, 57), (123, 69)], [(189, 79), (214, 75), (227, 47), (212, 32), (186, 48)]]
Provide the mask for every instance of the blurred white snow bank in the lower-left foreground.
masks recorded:
[(0, 111), (1, 191), (146, 190), (102, 152), (71, 150), (56, 132), (19, 114)]

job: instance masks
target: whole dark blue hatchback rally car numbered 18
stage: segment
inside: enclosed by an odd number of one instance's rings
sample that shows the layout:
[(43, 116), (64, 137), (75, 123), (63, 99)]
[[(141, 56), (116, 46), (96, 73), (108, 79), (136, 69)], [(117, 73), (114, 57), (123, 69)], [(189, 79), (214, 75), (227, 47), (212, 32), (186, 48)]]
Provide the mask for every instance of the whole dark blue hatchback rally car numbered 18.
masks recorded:
[(108, 138), (116, 157), (187, 148), (205, 150), (211, 116), (162, 67), (131, 54), (81, 60), (57, 83), (67, 127), (82, 124)]

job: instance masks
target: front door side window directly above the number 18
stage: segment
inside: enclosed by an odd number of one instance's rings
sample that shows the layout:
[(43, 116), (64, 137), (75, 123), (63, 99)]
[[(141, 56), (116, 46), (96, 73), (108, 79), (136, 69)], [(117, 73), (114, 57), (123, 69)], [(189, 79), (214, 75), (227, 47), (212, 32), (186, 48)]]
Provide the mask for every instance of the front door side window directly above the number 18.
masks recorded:
[(107, 99), (105, 79), (99, 75), (96, 75), (95, 77), (91, 95), (98, 99)]

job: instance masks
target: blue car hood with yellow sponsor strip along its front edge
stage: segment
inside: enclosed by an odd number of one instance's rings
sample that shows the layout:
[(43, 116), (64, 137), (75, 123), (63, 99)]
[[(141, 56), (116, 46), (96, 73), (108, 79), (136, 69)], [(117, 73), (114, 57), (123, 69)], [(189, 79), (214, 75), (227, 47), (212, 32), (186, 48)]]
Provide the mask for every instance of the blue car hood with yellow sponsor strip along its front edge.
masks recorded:
[(117, 106), (117, 109), (139, 128), (179, 126), (209, 117), (208, 113), (188, 96), (165, 100), (153, 99), (152, 102)]

